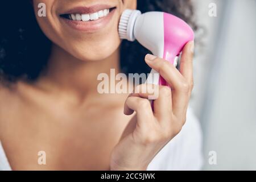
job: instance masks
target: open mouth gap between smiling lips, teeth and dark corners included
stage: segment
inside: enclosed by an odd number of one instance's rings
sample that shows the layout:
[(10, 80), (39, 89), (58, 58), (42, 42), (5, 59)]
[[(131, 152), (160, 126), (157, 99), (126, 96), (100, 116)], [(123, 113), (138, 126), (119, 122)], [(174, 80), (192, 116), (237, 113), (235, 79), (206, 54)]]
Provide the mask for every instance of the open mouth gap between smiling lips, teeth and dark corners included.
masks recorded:
[(77, 22), (91, 22), (94, 20), (98, 20), (101, 18), (104, 18), (105, 16), (108, 16), (111, 11), (116, 9), (116, 7), (110, 8), (110, 9), (103, 9), (100, 11), (96, 11), (94, 13), (88, 13), (88, 14), (82, 14), (82, 13), (70, 13), (70, 14), (62, 14), (60, 15), (61, 18), (65, 18), (68, 20), (73, 20)]

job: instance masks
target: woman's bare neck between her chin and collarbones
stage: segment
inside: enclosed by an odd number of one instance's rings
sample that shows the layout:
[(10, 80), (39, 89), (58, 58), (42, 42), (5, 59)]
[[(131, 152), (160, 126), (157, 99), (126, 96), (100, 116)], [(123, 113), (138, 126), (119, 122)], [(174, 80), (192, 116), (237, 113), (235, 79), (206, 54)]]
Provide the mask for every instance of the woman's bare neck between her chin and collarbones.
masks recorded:
[(104, 60), (84, 61), (53, 45), (46, 75), (38, 83), (44, 88), (85, 97), (86, 94), (98, 94), (97, 77), (100, 73), (110, 75), (110, 69), (120, 72), (119, 49)]

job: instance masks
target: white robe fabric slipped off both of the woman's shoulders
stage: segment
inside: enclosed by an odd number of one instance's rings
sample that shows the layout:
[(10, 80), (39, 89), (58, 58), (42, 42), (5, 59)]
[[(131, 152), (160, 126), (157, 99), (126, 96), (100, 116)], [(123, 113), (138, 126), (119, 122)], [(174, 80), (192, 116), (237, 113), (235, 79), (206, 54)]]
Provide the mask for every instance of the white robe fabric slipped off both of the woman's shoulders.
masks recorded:
[[(155, 156), (147, 170), (200, 170), (203, 166), (202, 133), (198, 119), (188, 108), (183, 129)], [(0, 171), (11, 167), (0, 142)]]

